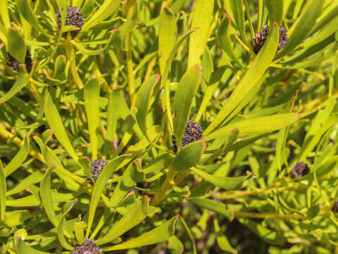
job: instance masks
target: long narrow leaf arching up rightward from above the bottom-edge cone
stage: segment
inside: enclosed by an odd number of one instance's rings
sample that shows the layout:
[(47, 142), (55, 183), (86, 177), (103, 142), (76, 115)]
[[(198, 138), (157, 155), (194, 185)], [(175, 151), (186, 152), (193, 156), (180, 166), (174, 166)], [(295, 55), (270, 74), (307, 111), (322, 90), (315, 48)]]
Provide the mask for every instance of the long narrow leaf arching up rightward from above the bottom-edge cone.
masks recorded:
[(108, 179), (111, 177), (114, 171), (120, 169), (120, 164), (125, 161), (125, 159), (129, 159), (130, 155), (120, 155), (113, 159), (111, 162), (109, 162), (106, 167), (101, 171), (101, 174), (99, 175), (99, 178), (96, 179), (96, 182), (94, 184), (94, 189), (92, 192), (92, 198), (90, 200), (89, 205), (89, 216), (88, 216), (88, 227), (86, 232), (86, 238), (89, 236), (90, 229), (92, 229), (92, 224), (94, 220), (95, 210), (97, 207), (97, 204), (99, 203), (99, 200), (101, 198), (101, 194), (104, 191), (104, 188), (106, 187)]

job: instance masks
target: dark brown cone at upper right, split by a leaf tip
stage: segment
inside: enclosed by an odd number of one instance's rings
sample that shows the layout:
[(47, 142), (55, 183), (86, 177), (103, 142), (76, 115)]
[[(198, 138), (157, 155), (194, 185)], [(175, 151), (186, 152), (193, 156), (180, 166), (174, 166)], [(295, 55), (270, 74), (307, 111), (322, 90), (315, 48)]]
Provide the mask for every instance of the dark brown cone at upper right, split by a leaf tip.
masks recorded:
[[(266, 38), (269, 35), (269, 26), (265, 25), (264, 28), (261, 29), (261, 32), (256, 33), (256, 37), (253, 39), (253, 52), (258, 54), (258, 52), (263, 47)], [(280, 40), (278, 42), (277, 51), (284, 48), (287, 44), (287, 28), (284, 25), (280, 25)]]

